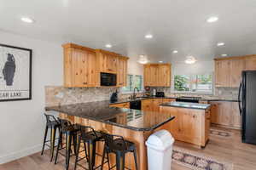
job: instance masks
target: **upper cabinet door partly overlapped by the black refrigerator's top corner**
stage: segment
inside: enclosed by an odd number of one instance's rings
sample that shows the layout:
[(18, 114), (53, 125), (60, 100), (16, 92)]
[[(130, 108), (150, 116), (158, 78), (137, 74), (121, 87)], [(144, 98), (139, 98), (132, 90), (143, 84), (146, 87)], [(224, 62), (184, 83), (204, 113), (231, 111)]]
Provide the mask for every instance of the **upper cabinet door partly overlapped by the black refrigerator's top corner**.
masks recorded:
[(230, 87), (239, 88), (241, 82), (241, 71), (245, 69), (244, 59), (230, 60)]

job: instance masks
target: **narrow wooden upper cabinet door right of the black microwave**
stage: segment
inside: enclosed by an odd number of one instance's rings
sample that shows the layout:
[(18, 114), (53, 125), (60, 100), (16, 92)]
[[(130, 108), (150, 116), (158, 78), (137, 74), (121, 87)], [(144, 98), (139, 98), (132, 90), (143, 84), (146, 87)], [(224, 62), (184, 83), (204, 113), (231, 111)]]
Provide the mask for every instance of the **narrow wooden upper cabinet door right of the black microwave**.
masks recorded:
[(118, 59), (118, 86), (126, 86), (126, 75), (127, 75), (127, 59)]

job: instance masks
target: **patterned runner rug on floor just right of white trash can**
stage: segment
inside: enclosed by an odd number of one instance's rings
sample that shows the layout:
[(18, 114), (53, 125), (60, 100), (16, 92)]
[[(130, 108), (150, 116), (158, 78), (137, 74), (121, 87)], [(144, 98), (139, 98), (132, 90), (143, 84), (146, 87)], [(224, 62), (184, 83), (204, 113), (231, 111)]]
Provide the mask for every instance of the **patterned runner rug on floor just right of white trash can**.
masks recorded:
[(233, 164), (218, 161), (201, 153), (174, 146), (172, 150), (172, 161), (193, 170), (232, 170)]

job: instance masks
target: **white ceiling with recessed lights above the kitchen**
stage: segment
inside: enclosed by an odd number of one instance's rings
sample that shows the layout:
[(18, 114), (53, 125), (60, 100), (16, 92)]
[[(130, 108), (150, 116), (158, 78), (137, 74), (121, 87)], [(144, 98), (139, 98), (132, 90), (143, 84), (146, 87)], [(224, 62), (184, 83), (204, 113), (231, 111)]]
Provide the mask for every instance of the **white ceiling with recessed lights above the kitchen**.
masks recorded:
[[(219, 20), (209, 24), (212, 15)], [(21, 16), (36, 22), (22, 23)], [(256, 54), (255, 18), (254, 0), (0, 0), (2, 31), (90, 48), (109, 42), (112, 51), (152, 61)]]

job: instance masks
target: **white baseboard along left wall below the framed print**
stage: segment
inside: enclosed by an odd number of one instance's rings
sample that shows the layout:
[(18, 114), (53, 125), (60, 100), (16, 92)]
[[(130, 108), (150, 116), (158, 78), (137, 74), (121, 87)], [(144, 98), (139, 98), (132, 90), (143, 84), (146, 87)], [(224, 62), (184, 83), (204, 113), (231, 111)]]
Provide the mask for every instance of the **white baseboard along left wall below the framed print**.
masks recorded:
[(42, 150), (42, 144), (37, 144), (31, 148), (26, 148), (24, 150), (20, 150), (17, 152), (13, 152), (7, 156), (1, 156), (0, 157), (0, 164), (9, 162), (9, 161), (14, 161), (16, 159), (19, 159), (20, 157), (24, 156), (30, 156), (34, 153), (37, 153), (38, 151)]

